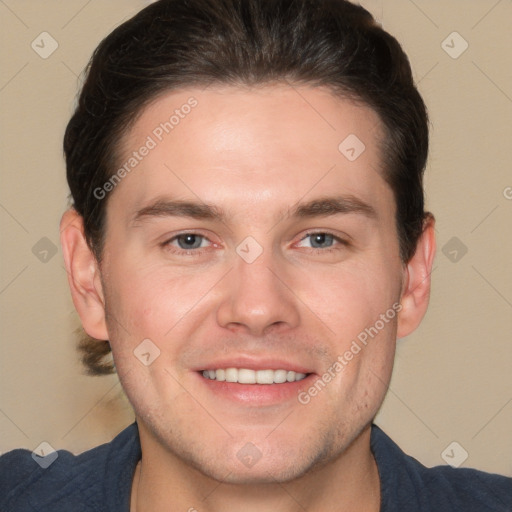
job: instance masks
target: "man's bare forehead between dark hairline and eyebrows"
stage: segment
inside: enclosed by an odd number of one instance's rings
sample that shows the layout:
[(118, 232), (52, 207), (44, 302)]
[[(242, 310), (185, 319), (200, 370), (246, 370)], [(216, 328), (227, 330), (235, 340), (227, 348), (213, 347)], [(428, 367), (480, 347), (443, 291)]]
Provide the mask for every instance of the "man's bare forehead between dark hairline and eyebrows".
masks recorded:
[(343, 193), (389, 208), (382, 136), (373, 110), (324, 88), (173, 91), (146, 107), (120, 144), (118, 167), (128, 172), (112, 200), (139, 209), (167, 194), (254, 211)]

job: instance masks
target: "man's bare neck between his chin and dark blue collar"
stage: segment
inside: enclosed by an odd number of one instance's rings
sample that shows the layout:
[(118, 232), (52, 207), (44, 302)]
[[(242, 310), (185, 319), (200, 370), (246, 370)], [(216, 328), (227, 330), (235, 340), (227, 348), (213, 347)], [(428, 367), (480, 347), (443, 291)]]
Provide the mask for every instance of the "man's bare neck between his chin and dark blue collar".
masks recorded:
[(370, 426), (337, 459), (289, 482), (226, 483), (209, 478), (159, 445), (142, 442), (142, 453), (133, 479), (130, 512), (380, 509), (380, 480), (370, 450)]

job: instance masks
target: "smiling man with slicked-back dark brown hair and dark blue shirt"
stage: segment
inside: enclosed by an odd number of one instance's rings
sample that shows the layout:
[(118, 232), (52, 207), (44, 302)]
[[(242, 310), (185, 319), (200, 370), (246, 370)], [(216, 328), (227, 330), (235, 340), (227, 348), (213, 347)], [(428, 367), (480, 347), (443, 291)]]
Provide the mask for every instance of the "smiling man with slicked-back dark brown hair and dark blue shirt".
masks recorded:
[(425, 107), (368, 12), (156, 2), (96, 50), (64, 148), (84, 360), (112, 351), (137, 421), (47, 469), (7, 454), (2, 510), (511, 509), (511, 479), (372, 425), (435, 240)]

